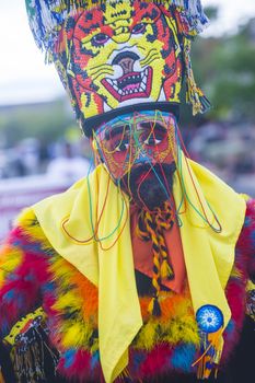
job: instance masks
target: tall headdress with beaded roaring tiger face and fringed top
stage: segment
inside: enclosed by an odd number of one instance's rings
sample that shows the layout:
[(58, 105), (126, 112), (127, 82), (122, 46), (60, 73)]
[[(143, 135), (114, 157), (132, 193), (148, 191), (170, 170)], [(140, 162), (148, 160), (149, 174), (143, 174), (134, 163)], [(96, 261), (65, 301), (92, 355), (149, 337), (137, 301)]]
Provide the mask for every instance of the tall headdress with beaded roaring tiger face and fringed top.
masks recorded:
[(119, 113), (177, 115), (184, 79), (194, 114), (209, 107), (189, 56), (208, 23), (199, 0), (26, 0), (26, 8), (86, 136)]

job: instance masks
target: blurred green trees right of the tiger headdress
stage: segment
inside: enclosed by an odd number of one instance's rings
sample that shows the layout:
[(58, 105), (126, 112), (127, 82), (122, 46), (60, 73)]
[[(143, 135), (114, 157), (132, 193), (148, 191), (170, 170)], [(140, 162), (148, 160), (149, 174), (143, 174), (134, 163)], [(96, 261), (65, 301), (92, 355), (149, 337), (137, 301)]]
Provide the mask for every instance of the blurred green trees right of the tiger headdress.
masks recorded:
[(255, 120), (255, 19), (236, 34), (198, 38), (193, 62), (197, 81), (213, 105), (207, 118)]

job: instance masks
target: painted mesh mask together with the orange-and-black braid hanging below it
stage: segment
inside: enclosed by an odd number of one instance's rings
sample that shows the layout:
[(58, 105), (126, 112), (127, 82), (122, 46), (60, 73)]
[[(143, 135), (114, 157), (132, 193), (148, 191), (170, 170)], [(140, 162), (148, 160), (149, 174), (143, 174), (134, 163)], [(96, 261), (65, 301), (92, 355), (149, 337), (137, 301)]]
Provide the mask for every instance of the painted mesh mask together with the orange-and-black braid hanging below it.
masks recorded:
[(149, 311), (161, 315), (161, 280), (174, 278), (163, 232), (174, 224), (172, 177), (176, 170), (176, 120), (170, 113), (124, 115), (94, 134), (102, 161), (139, 209), (137, 233), (151, 241), (153, 295)]

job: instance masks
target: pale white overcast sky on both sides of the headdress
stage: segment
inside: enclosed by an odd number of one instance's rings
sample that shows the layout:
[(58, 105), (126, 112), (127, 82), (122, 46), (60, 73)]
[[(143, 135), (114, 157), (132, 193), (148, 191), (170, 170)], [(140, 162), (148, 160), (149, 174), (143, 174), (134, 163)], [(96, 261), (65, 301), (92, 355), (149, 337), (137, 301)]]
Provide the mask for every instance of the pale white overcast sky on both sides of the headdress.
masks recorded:
[[(255, 0), (204, 0), (220, 5), (217, 26), (206, 34), (233, 31), (248, 16), (255, 16)], [(62, 93), (53, 66), (44, 65), (30, 32), (25, 0), (0, 0), (0, 104), (37, 102)]]

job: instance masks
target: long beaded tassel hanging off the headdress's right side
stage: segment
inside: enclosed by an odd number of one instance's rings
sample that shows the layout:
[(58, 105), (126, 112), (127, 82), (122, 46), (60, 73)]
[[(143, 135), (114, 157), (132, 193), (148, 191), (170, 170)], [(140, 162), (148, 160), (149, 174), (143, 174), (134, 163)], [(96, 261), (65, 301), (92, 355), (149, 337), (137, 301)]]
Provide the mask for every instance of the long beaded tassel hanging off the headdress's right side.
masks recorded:
[(211, 108), (211, 103), (206, 97), (200, 88), (197, 86), (190, 59), (192, 42), (188, 38), (184, 38), (184, 59), (186, 69), (186, 102), (193, 105), (193, 115), (198, 113), (206, 113)]

